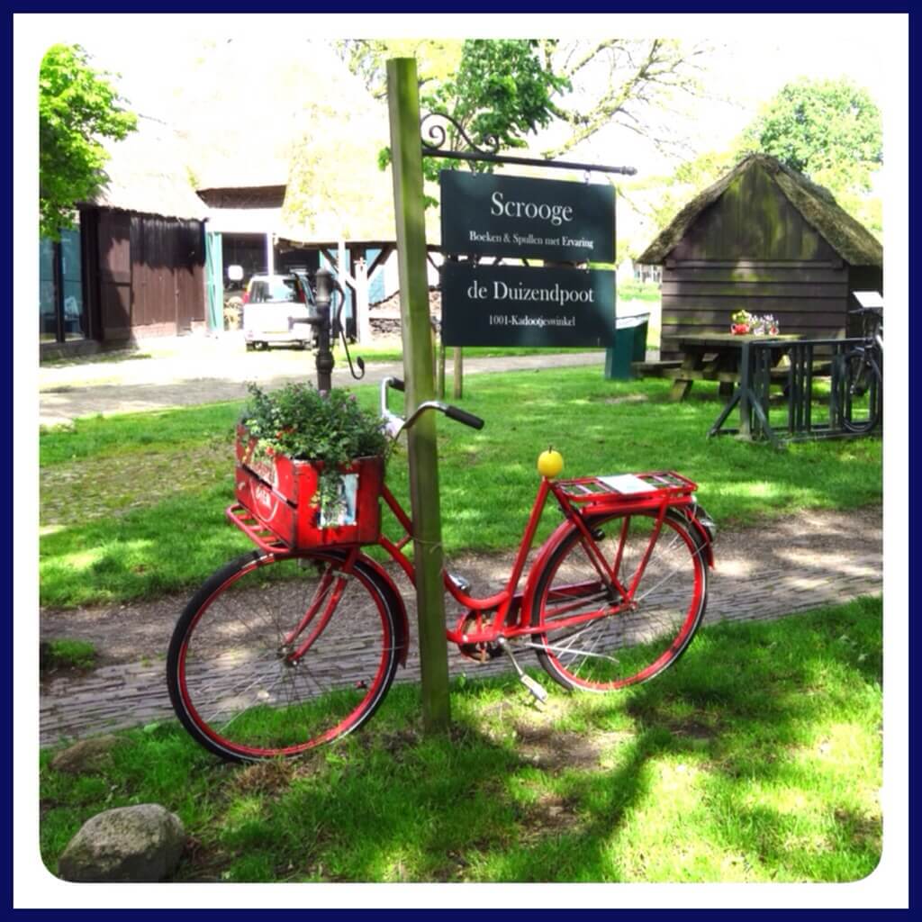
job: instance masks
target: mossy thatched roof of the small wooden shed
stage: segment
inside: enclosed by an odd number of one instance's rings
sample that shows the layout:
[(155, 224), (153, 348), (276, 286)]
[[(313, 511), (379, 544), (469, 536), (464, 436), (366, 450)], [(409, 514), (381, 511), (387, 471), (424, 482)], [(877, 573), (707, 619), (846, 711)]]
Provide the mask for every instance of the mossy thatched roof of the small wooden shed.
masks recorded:
[(691, 225), (698, 219), (706, 207), (713, 205), (728, 186), (740, 175), (750, 170), (762, 170), (785, 195), (786, 199), (798, 209), (822, 238), (833, 247), (846, 263), (851, 266), (882, 266), (883, 247), (867, 228), (852, 218), (840, 207), (832, 193), (822, 186), (811, 183), (806, 176), (791, 170), (783, 163), (766, 154), (751, 154), (726, 175), (695, 195), (678, 215), (672, 219), (644, 254), (637, 258), (638, 263), (655, 265), (666, 261), (668, 254), (675, 249)]

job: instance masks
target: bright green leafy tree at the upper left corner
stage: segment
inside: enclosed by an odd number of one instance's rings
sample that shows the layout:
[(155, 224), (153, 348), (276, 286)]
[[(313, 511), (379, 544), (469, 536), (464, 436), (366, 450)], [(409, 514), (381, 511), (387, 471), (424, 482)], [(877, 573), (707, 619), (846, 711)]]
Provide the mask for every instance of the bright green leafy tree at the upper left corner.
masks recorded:
[(89, 66), (79, 45), (53, 45), (39, 70), (39, 227), (57, 240), (75, 226), (78, 202), (92, 199), (105, 184), (109, 155), (103, 138), (123, 140), (136, 129), (136, 116), (103, 72)]

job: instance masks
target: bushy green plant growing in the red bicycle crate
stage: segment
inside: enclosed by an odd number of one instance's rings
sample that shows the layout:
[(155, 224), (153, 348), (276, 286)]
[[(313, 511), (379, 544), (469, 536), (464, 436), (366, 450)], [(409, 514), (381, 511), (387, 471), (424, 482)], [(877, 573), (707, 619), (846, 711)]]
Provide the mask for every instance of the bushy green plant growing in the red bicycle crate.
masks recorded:
[(388, 454), (391, 442), (382, 420), (362, 409), (349, 391), (321, 393), (313, 384), (286, 384), (267, 393), (251, 383), (247, 389), (250, 400), (240, 421), (256, 440), (256, 452), (321, 462), (322, 506), (335, 508), (340, 502), (341, 467), (354, 458)]

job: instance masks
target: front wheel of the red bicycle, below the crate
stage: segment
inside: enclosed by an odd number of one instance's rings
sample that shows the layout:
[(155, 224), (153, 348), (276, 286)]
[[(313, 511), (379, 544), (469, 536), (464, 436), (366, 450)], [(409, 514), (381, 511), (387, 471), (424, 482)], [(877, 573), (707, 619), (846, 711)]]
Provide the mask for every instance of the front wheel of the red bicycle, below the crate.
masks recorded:
[(402, 627), (374, 573), (336, 552), (251, 551), (215, 573), (173, 632), (183, 727), (231, 761), (296, 755), (360, 727), (394, 679)]

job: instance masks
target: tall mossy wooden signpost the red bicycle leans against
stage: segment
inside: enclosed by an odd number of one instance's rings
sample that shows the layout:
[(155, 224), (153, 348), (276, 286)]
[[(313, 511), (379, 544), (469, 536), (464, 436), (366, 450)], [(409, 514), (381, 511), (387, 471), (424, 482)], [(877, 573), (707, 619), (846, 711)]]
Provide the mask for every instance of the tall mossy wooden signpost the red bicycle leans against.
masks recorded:
[[(422, 205), (420, 94), (414, 58), (387, 62), (391, 124), (400, 330), (403, 338), (406, 412), (433, 399), (432, 327), (426, 272), (426, 228)], [(423, 413), (408, 431), (409, 494), (413, 516), (417, 619), (420, 629), (422, 719), (427, 732), (450, 721), (448, 644), (442, 583), (442, 512), (435, 413)]]

